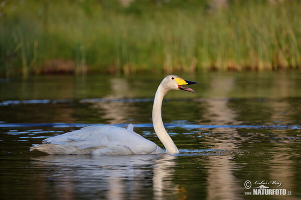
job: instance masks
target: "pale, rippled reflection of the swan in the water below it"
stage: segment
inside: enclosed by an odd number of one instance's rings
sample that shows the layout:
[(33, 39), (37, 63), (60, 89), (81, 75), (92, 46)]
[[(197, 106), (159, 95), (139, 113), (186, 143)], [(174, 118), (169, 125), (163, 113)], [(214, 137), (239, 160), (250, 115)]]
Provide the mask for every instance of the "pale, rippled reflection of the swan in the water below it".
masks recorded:
[[(39, 191), (60, 199), (99, 196), (107, 199), (164, 199), (179, 195), (173, 179), (177, 156), (162, 155), (46, 155), (32, 159), (39, 168)], [(45, 169), (45, 170), (44, 170)]]

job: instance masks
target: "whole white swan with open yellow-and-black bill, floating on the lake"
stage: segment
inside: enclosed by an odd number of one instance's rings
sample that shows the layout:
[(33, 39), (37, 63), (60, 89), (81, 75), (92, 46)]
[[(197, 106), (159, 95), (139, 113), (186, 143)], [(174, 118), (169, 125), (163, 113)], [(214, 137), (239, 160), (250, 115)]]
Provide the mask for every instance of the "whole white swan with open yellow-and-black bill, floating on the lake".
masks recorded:
[(33, 144), (32, 150), (48, 154), (160, 154), (178, 153), (179, 150), (167, 133), (161, 115), (162, 101), (171, 89), (195, 92), (183, 85), (197, 82), (184, 80), (177, 75), (166, 76), (158, 86), (153, 105), (153, 125), (156, 134), (166, 151), (153, 141), (145, 139), (133, 131), (133, 125), (127, 128), (112, 125), (90, 125), (54, 137), (46, 138), (42, 144)]

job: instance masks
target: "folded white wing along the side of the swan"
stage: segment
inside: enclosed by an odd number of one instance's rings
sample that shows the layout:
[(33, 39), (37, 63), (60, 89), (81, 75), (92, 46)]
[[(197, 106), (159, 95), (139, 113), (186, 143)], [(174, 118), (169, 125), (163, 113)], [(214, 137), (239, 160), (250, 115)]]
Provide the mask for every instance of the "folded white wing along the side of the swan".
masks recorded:
[(125, 151), (127, 154), (147, 154), (156, 151), (158, 147), (130, 129), (109, 125), (87, 126), (44, 139), (43, 143), (71, 145), (78, 150), (95, 148), (101, 154), (104, 154), (104, 151), (100, 149), (107, 149), (106, 152), (112, 151), (114, 154), (118, 154), (118, 151)]

